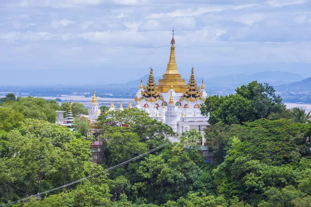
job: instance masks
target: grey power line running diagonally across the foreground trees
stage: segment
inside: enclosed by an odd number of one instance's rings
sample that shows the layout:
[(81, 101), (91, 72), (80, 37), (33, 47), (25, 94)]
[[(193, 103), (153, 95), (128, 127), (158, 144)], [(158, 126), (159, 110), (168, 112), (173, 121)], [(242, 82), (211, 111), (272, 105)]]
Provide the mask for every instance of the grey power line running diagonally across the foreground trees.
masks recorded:
[[(143, 156), (145, 156), (145, 155), (147, 155), (147, 154), (150, 154), (150, 153), (152, 153), (152, 152), (154, 152), (154, 151), (156, 151), (156, 150), (158, 150), (158, 149), (164, 147), (165, 145), (167, 145), (167, 144), (169, 144), (169, 143), (171, 143), (171, 142), (170, 142), (170, 141), (169, 141), (169, 142), (166, 142), (166, 143), (164, 143), (164, 144), (162, 144), (162, 145), (160, 145), (160, 146), (158, 146), (158, 147), (156, 147), (156, 148), (153, 148), (152, 150), (149, 150), (148, 152), (145, 152), (145, 153), (143, 153), (143, 154), (140, 154), (140, 155), (138, 155), (138, 156), (136, 156), (136, 157), (134, 157), (134, 158), (132, 158), (132, 159), (129, 159), (129, 160), (127, 160), (127, 161), (124, 161), (123, 163), (117, 164), (117, 165), (115, 165), (115, 166), (113, 166), (113, 167), (107, 168), (107, 169), (105, 169), (104, 171), (109, 172), (109, 171), (111, 171), (111, 170), (113, 170), (113, 169), (115, 169), (115, 168), (118, 168), (118, 167), (120, 167), (120, 166), (122, 166), (122, 165), (125, 165), (125, 164), (127, 164), (127, 163), (130, 163), (130, 162), (132, 162), (132, 161), (134, 161), (134, 160), (137, 160), (137, 159), (139, 159), (139, 158), (141, 158), (141, 157), (143, 157)], [(102, 174), (104, 171), (95, 174), (95, 176)], [(50, 189), (50, 190), (48, 190), (48, 191), (43, 191), (43, 192), (41, 192), (41, 193), (37, 193), (37, 194), (35, 194), (35, 195), (31, 195), (31, 196), (28, 196), (28, 197), (26, 197), (26, 198), (21, 198), (21, 199), (19, 199), (19, 200), (15, 200), (15, 201), (12, 201), (12, 202), (10, 202), (10, 203), (6, 203), (6, 204), (0, 205), (0, 206), (6, 206), (6, 205), (15, 204), (15, 203), (17, 203), (17, 202), (20, 202), (20, 201), (23, 201), (23, 200), (27, 200), (27, 199), (29, 199), (30, 197), (34, 197), (34, 196), (36, 197), (36, 196), (39, 196), (39, 195), (42, 195), (42, 194), (45, 194), (45, 193), (49, 193), (49, 192), (51, 192), (51, 191), (58, 190), (58, 189), (63, 188), (63, 187), (71, 186), (71, 185), (73, 185), (73, 184), (75, 184), (75, 183), (84, 181), (84, 180), (89, 179), (89, 178), (91, 178), (91, 177), (92, 177), (92, 176), (89, 175), (89, 176), (84, 177), (84, 178), (82, 178), (82, 179), (80, 179), (80, 180), (76, 180), (76, 181), (67, 183), (67, 184), (65, 184), (65, 185), (62, 185), (62, 186), (59, 186), (59, 187)]]

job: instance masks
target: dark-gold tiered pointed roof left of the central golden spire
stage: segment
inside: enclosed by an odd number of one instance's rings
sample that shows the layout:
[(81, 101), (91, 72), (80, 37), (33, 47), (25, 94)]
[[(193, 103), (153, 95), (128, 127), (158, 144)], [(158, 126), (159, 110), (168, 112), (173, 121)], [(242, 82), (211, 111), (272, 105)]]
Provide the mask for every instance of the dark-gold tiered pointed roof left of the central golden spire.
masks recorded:
[[(150, 75), (148, 79), (147, 86), (144, 86), (144, 91), (142, 91), (142, 96), (147, 100), (147, 101), (157, 101), (158, 99), (163, 100), (160, 91), (158, 89), (158, 86), (156, 85), (156, 81), (153, 76), (153, 69), (152, 67), (150, 68)], [(135, 100), (137, 100), (137, 97), (135, 97)]]

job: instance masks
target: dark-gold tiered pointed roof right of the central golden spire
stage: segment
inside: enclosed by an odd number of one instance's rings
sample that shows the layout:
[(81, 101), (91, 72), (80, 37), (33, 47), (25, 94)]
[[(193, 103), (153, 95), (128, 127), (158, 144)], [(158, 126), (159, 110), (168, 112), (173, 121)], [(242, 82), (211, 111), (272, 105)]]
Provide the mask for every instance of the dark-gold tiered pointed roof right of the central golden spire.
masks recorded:
[[(204, 85), (203, 85), (204, 88)], [(197, 82), (195, 81), (193, 67), (191, 69), (190, 79), (187, 85), (186, 91), (183, 93), (183, 97), (180, 100), (187, 100), (187, 101), (197, 101), (198, 99), (203, 99), (202, 91), (199, 91), (200, 87), (197, 86)]]

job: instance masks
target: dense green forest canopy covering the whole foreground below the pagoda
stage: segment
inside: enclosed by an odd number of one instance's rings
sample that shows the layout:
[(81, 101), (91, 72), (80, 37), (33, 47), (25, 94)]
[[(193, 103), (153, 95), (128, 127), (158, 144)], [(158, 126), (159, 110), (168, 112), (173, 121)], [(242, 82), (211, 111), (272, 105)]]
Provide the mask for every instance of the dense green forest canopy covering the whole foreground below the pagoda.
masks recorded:
[(211, 116), (204, 134), (214, 163), (203, 162), (197, 148), (202, 136), (190, 130), (180, 142), (109, 173), (104, 169), (178, 135), (136, 108), (102, 113), (95, 127), (108, 142), (103, 163), (94, 164), (89, 122), (75, 118), (71, 131), (50, 123), (47, 114), (31, 118), (26, 113), (27, 103), (53, 108), (53, 101), (4, 101), (0, 204), (91, 176), (14, 206), (310, 206), (309, 115), (303, 109), (285, 110), (266, 84), (254, 81), (236, 92), (211, 96), (202, 105), (202, 113)]

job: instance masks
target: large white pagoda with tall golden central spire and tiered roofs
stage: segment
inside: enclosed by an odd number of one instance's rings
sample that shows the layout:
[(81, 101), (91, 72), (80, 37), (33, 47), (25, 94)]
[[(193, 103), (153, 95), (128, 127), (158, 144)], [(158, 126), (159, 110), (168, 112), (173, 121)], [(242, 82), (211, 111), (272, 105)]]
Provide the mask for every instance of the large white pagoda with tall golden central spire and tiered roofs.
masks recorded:
[[(187, 85), (185, 80), (181, 79), (175, 61), (174, 44), (173, 31), (169, 62), (163, 79), (156, 84), (153, 69), (150, 68), (147, 85), (143, 86), (141, 81), (134, 97), (136, 108), (145, 110), (150, 117), (169, 125), (179, 135), (183, 131), (197, 129), (204, 136), (203, 129), (209, 126), (209, 117), (202, 116), (200, 111), (200, 104), (204, 103), (207, 97), (204, 83), (202, 80), (201, 88), (197, 85), (193, 68)], [(113, 103), (109, 110), (115, 110)]]

